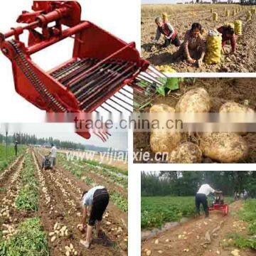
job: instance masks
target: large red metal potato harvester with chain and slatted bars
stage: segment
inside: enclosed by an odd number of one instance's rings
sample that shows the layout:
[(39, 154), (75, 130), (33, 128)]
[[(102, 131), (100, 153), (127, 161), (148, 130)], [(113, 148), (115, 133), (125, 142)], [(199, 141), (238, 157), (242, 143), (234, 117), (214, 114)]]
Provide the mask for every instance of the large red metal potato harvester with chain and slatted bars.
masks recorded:
[[(156, 80), (161, 74), (140, 58), (135, 43), (125, 43), (90, 21), (81, 21), (77, 1), (33, 1), (32, 10), (18, 16), (23, 26), (0, 33), (0, 44), (11, 60), (16, 92), (41, 110), (132, 112), (132, 90), (143, 105), (146, 96), (140, 83), (146, 82), (149, 93), (161, 85)], [(24, 31), (28, 31), (27, 43), (20, 40)], [(70, 60), (49, 71), (33, 62), (33, 53), (68, 37), (74, 38)], [(100, 137), (106, 135), (102, 133)], [(90, 137), (88, 132), (80, 135)]]

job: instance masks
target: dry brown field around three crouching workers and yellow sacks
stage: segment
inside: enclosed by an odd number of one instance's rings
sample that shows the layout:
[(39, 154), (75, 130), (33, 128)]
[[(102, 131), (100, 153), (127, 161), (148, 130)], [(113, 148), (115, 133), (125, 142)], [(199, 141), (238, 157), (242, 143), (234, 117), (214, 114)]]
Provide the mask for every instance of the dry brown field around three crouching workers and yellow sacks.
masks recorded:
[[(142, 5), (142, 57), (149, 60), (153, 65), (169, 65), (176, 72), (255, 72), (256, 70), (256, 17), (252, 16), (251, 21), (246, 21), (247, 10), (251, 7), (245, 7), (233, 16), (233, 9), (238, 9), (238, 4), (169, 4), (169, 5)], [(241, 8), (241, 7), (240, 7)], [(242, 7), (244, 8), (244, 7)], [(213, 21), (211, 9), (218, 13), (218, 21)], [(230, 17), (225, 16), (225, 9), (230, 10)], [(201, 68), (184, 61), (171, 59), (171, 54), (178, 48), (169, 46), (161, 48), (164, 43), (164, 36), (161, 36), (157, 45), (151, 43), (151, 36), (156, 34), (156, 25), (154, 19), (161, 16), (163, 12), (169, 15), (169, 22), (183, 40), (186, 31), (191, 27), (192, 23), (199, 22), (203, 28), (208, 31), (240, 19), (243, 23), (242, 36), (238, 36), (237, 53), (235, 55), (223, 55), (222, 61), (216, 65), (206, 65), (203, 63)], [(230, 49), (230, 46), (227, 46)]]

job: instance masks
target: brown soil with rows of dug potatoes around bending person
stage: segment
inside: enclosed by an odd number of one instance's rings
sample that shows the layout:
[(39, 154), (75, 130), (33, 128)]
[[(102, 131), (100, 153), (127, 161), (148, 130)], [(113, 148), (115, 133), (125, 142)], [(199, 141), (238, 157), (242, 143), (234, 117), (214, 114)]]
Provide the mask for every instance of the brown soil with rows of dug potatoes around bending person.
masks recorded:
[[(24, 156), (21, 156), (9, 171), (1, 176), (1, 198), (9, 198), (9, 210), (13, 225), (18, 225), (28, 217), (38, 216), (43, 224), (43, 230), (46, 234), (53, 231), (56, 222), (60, 225), (66, 225), (68, 236), (58, 237), (54, 242), (50, 241), (48, 236), (48, 248), (50, 255), (65, 255), (65, 246), (70, 242), (77, 250), (78, 255), (127, 255), (127, 213), (117, 208), (113, 203), (107, 207), (107, 211), (102, 220), (102, 239), (94, 239), (90, 249), (85, 249), (80, 244), (80, 240), (85, 240), (85, 233), (78, 230), (77, 225), (81, 221), (81, 195), (82, 191), (87, 191), (91, 186), (81, 179), (77, 178), (70, 171), (63, 168), (61, 163), (56, 166), (55, 172), (41, 170), (41, 152), (38, 149), (29, 149), (28, 154), (33, 158), (33, 168), (36, 172), (36, 178), (40, 181), (40, 198), (38, 202), (38, 211), (17, 210), (14, 206), (14, 200), (18, 193), (19, 176), (23, 169)], [(95, 178), (95, 174), (90, 174), (90, 178)], [(115, 189), (117, 185), (110, 185), (107, 188)], [(10, 196), (11, 191), (11, 196)], [(119, 190), (125, 196), (127, 190)], [(47, 201), (49, 200), (49, 203)], [(9, 218), (0, 217), (0, 224), (10, 223)], [(111, 225), (107, 225), (111, 223)], [(117, 229), (122, 232), (117, 234)], [(0, 228), (1, 230), (1, 228)]]

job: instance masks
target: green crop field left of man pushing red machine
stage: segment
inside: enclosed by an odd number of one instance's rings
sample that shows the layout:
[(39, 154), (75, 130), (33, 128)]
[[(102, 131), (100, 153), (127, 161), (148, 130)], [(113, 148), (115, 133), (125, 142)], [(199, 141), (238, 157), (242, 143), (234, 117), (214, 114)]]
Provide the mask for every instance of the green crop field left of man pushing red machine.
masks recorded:
[[(225, 198), (227, 203), (233, 198)], [(209, 203), (209, 200), (208, 200)], [(142, 228), (159, 228), (171, 221), (196, 213), (194, 196), (142, 197)]]

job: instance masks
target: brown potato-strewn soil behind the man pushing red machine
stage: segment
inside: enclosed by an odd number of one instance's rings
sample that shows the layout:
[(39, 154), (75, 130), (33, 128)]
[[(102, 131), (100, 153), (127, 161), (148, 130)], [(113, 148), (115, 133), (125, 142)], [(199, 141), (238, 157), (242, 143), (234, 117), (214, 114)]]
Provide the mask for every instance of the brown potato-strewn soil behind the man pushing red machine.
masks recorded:
[[(228, 233), (246, 233), (247, 224), (238, 220), (236, 213), (242, 207), (241, 201), (230, 204), (230, 214), (223, 217), (220, 212), (210, 212), (210, 218), (204, 216), (194, 218), (186, 223), (171, 228), (164, 233), (142, 242), (142, 255), (145, 249), (151, 250), (154, 255), (190, 255), (190, 256), (229, 256), (235, 250), (233, 247), (223, 247), (221, 244), (227, 240)], [(215, 228), (220, 229), (213, 232)], [(244, 228), (245, 227), (245, 228)], [(205, 236), (210, 233), (210, 243), (206, 244)], [(157, 240), (157, 242), (156, 242)], [(223, 241), (224, 240), (224, 241)], [(252, 256), (252, 250), (240, 250), (240, 256)]]

